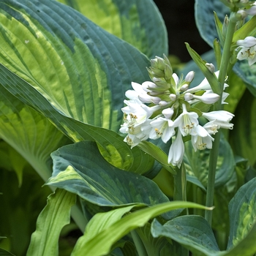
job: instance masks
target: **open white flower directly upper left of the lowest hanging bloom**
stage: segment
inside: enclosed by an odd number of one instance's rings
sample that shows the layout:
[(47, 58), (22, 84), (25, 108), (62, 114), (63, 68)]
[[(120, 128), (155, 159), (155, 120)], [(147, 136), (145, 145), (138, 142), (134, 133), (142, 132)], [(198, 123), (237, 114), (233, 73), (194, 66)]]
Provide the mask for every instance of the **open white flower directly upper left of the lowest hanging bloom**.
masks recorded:
[(167, 143), (167, 141), (170, 140), (173, 135), (175, 135), (175, 127), (173, 127), (173, 121), (168, 118), (158, 117), (151, 121), (150, 124), (154, 129), (151, 129), (149, 138), (153, 140), (161, 137), (162, 141)]

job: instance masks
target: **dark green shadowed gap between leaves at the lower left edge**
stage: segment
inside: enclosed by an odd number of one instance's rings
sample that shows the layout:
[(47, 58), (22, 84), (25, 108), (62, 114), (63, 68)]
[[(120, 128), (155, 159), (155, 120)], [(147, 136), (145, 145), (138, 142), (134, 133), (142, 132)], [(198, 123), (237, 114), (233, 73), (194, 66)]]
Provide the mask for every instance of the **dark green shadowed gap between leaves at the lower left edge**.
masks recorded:
[(42, 184), (42, 178), (28, 163), (20, 187), (14, 170), (0, 169), (0, 235), (7, 237), (0, 241), (0, 247), (10, 248), (15, 255), (26, 255), (37, 217), (51, 192)]

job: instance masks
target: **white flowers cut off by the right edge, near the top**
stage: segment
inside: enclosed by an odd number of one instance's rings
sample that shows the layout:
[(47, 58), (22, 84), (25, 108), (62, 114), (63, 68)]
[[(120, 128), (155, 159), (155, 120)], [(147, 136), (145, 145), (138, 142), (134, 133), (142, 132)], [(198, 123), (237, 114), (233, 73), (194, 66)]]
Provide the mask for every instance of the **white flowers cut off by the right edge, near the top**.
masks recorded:
[(239, 61), (248, 59), (249, 66), (252, 66), (252, 64), (255, 64), (255, 62), (256, 62), (256, 38), (255, 37), (246, 37), (244, 40), (238, 40), (236, 42), (236, 45), (238, 45), (237, 59)]

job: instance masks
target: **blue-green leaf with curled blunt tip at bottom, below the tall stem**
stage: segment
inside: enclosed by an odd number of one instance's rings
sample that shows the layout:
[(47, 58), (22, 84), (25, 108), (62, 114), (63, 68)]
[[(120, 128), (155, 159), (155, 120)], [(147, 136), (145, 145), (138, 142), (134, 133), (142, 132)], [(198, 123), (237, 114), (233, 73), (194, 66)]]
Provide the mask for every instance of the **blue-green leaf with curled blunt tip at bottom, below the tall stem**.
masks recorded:
[(214, 238), (214, 233), (206, 219), (196, 215), (181, 216), (161, 225), (154, 219), (151, 225), (154, 237), (165, 236), (177, 241), (193, 254), (217, 255), (219, 247)]

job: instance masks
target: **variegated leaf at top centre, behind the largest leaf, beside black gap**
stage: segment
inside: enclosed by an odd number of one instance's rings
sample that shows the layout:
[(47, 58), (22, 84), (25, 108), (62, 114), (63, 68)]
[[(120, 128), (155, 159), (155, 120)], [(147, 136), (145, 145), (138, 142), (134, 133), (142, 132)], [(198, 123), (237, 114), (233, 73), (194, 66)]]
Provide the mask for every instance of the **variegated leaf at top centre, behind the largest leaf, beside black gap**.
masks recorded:
[(78, 10), (102, 29), (134, 45), (148, 58), (168, 53), (165, 23), (154, 1), (59, 1)]

